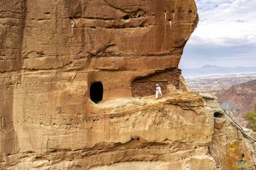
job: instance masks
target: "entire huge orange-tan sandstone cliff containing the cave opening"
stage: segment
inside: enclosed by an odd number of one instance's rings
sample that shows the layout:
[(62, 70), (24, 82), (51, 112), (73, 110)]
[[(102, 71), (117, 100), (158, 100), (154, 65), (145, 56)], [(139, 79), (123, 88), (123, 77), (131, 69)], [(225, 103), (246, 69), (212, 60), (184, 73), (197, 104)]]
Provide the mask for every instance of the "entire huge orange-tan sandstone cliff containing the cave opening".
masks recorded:
[(193, 0), (1, 1), (1, 169), (254, 168), (180, 77), (197, 20)]

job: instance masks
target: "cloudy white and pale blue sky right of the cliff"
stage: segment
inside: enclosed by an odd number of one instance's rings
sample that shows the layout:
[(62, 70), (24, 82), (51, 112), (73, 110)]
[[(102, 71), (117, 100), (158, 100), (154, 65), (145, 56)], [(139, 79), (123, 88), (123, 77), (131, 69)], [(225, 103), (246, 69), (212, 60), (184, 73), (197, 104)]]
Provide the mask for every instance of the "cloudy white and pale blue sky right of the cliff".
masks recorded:
[(181, 69), (256, 66), (256, 0), (197, 0), (199, 23)]

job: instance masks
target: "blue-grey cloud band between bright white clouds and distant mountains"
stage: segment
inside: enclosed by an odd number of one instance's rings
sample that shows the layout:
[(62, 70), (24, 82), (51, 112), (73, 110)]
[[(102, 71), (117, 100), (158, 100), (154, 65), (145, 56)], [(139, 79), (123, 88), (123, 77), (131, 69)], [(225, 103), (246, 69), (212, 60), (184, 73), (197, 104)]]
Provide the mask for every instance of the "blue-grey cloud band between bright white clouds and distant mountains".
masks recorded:
[(217, 43), (189, 43), (179, 67), (196, 68), (207, 64), (223, 67), (255, 66), (255, 45), (223, 46)]

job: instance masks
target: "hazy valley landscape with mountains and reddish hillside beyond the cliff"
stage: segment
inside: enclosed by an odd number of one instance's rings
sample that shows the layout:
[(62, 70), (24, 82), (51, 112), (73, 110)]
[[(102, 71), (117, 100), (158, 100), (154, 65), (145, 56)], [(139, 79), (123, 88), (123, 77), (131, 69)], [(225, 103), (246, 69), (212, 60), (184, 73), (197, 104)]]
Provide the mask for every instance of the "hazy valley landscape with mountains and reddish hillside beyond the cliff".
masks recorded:
[[(214, 73), (218, 72), (217, 68), (233, 70), (234, 74), (216, 75)], [(244, 70), (251, 68), (244, 67)], [(189, 88), (198, 93), (215, 95), (226, 113), (232, 116), (239, 125), (246, 127), (247, 121), (244, 119), (244, 114), (254, 109), (256, 104), (256, 73), (239, 73), (236, 68), (223, 69), (217, 66), (203, 66), (192, 69), (193, 72), (189, 70), (184, 69), (185, 75), (190, 75), (185, 77)]]

